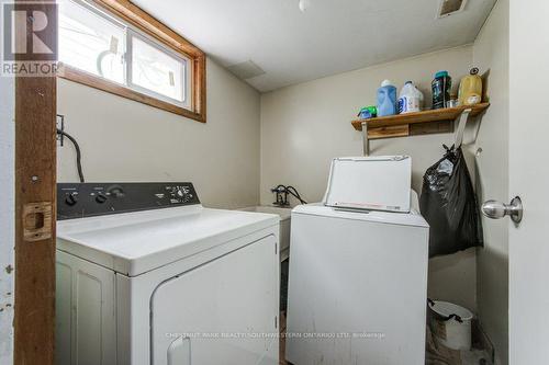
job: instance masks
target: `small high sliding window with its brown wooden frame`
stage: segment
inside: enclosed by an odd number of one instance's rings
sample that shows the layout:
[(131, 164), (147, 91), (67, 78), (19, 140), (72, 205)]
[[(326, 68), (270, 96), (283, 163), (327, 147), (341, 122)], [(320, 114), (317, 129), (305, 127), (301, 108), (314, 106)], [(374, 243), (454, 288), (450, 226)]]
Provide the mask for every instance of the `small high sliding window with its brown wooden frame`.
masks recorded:
[(64, 0), (59, 76), (205, 122), (205, 56), (126, 1)]

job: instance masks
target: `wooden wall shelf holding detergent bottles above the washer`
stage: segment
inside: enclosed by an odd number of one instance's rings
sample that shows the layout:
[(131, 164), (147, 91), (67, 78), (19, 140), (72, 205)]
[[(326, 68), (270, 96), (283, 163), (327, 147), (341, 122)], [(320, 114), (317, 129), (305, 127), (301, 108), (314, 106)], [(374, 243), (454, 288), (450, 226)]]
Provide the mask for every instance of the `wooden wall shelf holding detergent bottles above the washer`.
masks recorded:
[(446, 133), (453, 130), (452, 122), (456, 121), (464, 110), (471, 109), (471, 113), (469, 115), (477, 116), (484, 112), (489, 106), (490, 103), (481, 103), (477, 105), (380, 116), (370, 119), (356, 119), (351, 123), (357, 130), (362, 130), (363, 122), (368, 123), (369, 139)]

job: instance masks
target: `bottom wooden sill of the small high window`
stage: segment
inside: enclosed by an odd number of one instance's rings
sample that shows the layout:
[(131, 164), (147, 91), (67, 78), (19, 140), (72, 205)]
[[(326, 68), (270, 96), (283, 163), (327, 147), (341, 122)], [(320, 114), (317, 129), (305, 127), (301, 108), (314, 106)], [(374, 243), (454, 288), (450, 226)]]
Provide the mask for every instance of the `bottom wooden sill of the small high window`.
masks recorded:
[(187, 110), (184, 107), (180, 107), (173, 104), (170, 104), (168, 102), (165, 102), (163, 100), (139, 93), (137, 91), (131, 90), (124, 85), (121, 85), (119, 83), (108, 81), (105, 79), (99, 78), (97, 76), (90, 75), (85, 71), (80, 71), (74, 67), (67, 66), (59, 64), (59, 68), (57, 70), (57, 76), (70, 80), (74, 82), (78, 82), (85, 85), (88, 85), (90, 88), (94, 88), (98, 90), (102, 90), (109, 93), (112, 93), (114, 95), (119, 95), (122, 98), (126, 98), (149, 106), (157, 107), (159, 110), (170, 112), (177, 115), (184, 116), (187, 118), (200, 122), (200, 123), (205, 123), (205, 111), (201, 112), (193, 112), (190, 110)]

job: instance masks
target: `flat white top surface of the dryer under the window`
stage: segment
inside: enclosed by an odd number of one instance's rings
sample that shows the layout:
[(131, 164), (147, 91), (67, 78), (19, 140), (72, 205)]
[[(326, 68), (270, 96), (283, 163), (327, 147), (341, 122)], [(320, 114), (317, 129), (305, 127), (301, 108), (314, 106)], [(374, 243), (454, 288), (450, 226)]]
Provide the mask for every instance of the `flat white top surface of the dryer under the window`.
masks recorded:
[(276, 226), (279, 217), (187, 206), (57, 223), (57, 248), (136, 276)]

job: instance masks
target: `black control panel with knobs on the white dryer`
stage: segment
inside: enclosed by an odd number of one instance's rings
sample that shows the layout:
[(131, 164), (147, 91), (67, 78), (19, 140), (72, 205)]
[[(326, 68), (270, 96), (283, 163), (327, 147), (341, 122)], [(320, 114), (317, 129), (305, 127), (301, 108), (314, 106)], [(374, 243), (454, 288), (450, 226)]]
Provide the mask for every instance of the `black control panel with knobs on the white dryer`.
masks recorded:
[(200, 204), (192, 183), (59, 183), (57, 219)]

